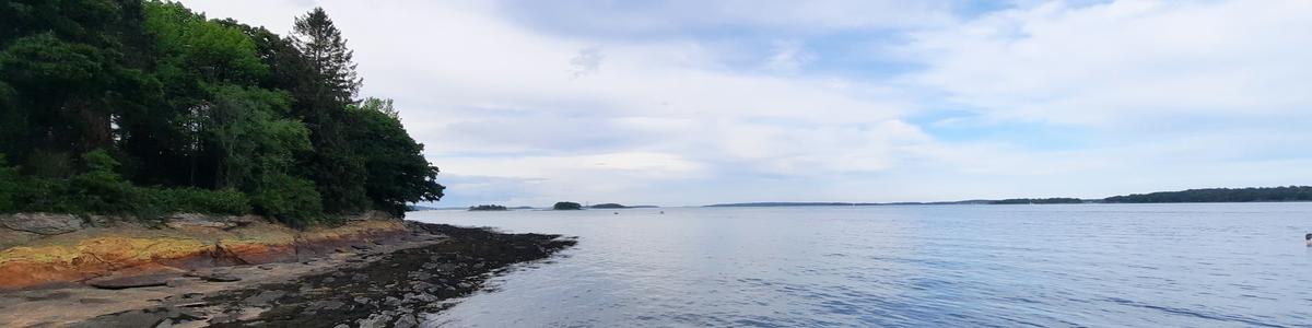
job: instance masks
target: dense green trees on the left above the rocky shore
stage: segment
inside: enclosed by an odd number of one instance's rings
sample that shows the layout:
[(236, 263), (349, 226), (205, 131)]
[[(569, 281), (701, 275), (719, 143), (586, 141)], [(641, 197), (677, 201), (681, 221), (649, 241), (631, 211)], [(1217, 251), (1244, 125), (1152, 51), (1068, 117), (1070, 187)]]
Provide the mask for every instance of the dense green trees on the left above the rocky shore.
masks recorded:
[(261, 214), (438, 201), (391, 100), (316, 8), (290, 35), (157, 0), (0, 4), (0, 213)]

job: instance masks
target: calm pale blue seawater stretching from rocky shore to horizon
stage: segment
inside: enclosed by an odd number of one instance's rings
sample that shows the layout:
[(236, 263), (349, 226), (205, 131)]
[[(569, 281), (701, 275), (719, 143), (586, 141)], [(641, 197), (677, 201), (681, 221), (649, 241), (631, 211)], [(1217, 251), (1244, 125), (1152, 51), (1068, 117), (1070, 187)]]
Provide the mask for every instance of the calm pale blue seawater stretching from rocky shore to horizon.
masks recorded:
[(1312, 327), (1312, 203), (613, 213), (411, 214), (580, 237), (425, 325)]

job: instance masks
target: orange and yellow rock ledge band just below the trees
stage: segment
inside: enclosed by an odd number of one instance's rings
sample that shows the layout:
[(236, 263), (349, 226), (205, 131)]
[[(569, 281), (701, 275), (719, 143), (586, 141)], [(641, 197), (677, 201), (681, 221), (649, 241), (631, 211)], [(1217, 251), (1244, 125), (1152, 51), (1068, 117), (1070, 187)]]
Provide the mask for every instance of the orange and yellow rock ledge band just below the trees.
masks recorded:
[(241, 227), (88, 228), (0, 249), (0, 289), (80, 282), (108, 274), (298, 261), (335, 247), (404, 232), (398, 219), (352, 220), (341, 227), (308, 231), (266, 222)]

